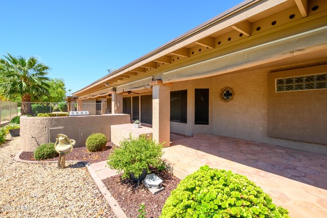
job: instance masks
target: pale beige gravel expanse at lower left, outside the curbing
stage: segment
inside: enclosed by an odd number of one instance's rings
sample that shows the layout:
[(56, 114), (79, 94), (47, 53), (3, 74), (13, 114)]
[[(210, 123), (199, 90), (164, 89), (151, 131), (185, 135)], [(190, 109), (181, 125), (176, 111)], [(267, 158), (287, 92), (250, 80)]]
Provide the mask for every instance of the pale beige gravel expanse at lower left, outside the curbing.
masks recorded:
[(20, 143), (0, 146), (0, 217), (114, 217), (85, 165), (16, 162)]

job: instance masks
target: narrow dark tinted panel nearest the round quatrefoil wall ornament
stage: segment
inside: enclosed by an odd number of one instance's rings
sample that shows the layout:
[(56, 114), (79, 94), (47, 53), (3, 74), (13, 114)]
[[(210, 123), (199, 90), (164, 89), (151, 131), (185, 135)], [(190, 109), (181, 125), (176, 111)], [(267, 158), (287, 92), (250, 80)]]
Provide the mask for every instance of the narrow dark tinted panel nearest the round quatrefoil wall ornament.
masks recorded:
[(209, 89), (195, 89), (195, 124), (209, 124)]

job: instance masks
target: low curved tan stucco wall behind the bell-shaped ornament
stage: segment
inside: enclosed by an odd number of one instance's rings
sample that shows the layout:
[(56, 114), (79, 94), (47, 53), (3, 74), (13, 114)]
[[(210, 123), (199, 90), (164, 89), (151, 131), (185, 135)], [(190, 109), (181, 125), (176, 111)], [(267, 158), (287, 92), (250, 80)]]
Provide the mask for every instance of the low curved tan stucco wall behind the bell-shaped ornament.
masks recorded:
[(76, 140), (75, 147), (85, 146), (86, 138), (101, 132), (111, 140), (111, 125), (130, 123), (129, 114), (107, 114), (62, 117), (20, 117), (20, 137), (23, 151), (34, 151), (38, 144), (55, 141), (57, 134)]

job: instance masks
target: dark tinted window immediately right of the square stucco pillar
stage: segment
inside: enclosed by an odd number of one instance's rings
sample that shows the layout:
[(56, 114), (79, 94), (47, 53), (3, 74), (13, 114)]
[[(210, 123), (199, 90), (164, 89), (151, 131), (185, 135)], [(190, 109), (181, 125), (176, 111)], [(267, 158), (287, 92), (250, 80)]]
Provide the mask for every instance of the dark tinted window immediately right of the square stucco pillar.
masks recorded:
[(188, 90), (170, 92), (170, 121), (187, 123), (188, 119)]

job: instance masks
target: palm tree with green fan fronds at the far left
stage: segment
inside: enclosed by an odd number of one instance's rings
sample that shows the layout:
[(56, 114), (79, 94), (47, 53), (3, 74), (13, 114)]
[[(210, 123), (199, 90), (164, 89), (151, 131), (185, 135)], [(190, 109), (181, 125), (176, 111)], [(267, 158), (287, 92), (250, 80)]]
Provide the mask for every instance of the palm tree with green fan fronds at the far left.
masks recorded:
[[(49, 95), (50, 79), (46, 77), (51, 69), (35, 57), (26, 59), (7, 53), (0, 58), (0, 89), (4, 98), (21, 96), (21, 102), (31, 102), (32, 98)], [(28, 114), (27, 104), (21, 105), (21, 113)]]

